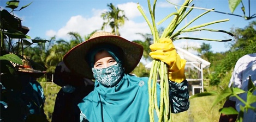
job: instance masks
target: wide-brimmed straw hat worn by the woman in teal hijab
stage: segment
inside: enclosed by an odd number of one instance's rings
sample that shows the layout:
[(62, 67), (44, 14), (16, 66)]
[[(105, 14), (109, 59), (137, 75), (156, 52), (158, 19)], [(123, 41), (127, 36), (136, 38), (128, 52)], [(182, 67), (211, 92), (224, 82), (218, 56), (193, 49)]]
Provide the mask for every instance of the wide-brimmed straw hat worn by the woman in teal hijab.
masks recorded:
[(94, 33), (87, 41), (69, 50), (63, 57), (63, 61), (73, 72), (85, 78), (94, 79), (92, 69), (86, 61), (86, 55), (91, 48), (102, 43), (113, 44), (123, 49), (125, 73), (132, 72), (140, 62), (143, 53), (143, 47), (140, 44), (104, 31)]

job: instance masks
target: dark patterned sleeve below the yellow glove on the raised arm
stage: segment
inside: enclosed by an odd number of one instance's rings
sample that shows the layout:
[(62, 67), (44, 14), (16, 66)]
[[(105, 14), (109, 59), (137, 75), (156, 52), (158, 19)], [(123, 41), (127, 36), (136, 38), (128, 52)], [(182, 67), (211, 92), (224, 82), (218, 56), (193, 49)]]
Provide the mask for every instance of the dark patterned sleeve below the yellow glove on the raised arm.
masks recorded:
[(169, 98), (171, 113), (180, 113), (189, 108), (188, 81), (184, 80), (180, 84), (169, 80)]

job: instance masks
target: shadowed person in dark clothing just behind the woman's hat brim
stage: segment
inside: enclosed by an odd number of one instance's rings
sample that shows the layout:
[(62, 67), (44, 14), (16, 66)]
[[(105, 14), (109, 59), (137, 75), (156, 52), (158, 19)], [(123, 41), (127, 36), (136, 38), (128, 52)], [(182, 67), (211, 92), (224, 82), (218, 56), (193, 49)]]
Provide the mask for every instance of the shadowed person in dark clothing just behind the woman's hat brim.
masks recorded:
[(94, 82), (71, 73), (63, 62), (56, 66), (53, 82), (62, 88), (56, 97), (52, 122), (80, 121), (78, 104), (93, 91)]

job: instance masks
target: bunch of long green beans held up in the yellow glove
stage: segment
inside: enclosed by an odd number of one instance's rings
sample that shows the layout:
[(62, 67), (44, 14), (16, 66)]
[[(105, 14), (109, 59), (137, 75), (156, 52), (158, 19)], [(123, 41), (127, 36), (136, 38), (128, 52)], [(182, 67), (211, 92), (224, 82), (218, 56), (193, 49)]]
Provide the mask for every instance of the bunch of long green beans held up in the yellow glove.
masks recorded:
[[(183, 3), (183, 5), (180, 5), (180, 9), (177, 9), (177, 7), (176, 7), (176, 10), (177, 10), (176, 12), (172, 12), (170, 15), (166, 16), (162, 21), (157, 23), (157, 24), (161, 24), (162, 22), (168, 20), (169, 17), (174, 16), (174, 18), (172, 18), (168, 27), (166, 27), (164, 29), (163, 34), (160, 36), (160, 38), (170, 38), (172, 41), (180, 40), (180, 39), (206, 40), (206, 41), (231, 41), (231, 39), (229, 39), (229, 40), (215, 40), (215, 39), (211, 39), (211, 38), (178, 37), (178, 35), (181, 35), (182, 33), (188, 33), (188, 32), (192, 32), (192, 31), (201, 31), (201, 30), (216, 31), (216, 32), (226, 33), (226, 34), (229, 34), (229, 35), (233, 36), (233, 34), (229, 33), (228, 31), (202, 28), (202, 27), (206, 27), (207, 25), (229, 21), (229, 19), (213, 21), (213, 22), (209, 22), (209, 23), (200, 24), (200, 25), (197, 25), (197, 26), (192, 27), (192, 28), (187, 28), (188, 25), (193, 23), (195, 20), (197, 20), (201, 16), (207, 14), (208, 12), (210, 12), (214, 9), (205, 11), (203, 14), (195, 17), (192, 21), (190, 21), (189, 23), (184, 25), (184, 27), (182, 27), (181, 29), (177, 30), (174, 33), (174, 31), (178, 27), (178, 25), (195, 8), (194, 5), (189, 7), (189, 4), (192, 1), (193, 0), (186, 0)], [(150, 23), (150, 21), (146, 17), (145, 12), (142, 10), (139, 3), (138, 3), (138, 9), (141, 12), (142, 16), (144, 16), (148, 26), (150, 27), (151, 33), (153, 35), (153, 43), (156, 43), (156, 42), (159, 42), (159, 34), (158, 34), (157, 27), (156, 27), (155, 15), (154, 15), (154, 10), (156, 9), (157, 0), (154, 0), (153, 9), (151, 9), (150, 0), (147, 0), (147, 2), (148, 2), (148, 10), (150, 11), (150, 15), (151, 15), (152, 24)], [(188, 11), (186, 11), (187, 8), (189, 8)], [(156, 86), (158, 84), (157, 83), (158, 76), (160, 78), (160, 89), (161, 89), (161, 91), (160, 91), (160, 100), (159, 100), (160, 105), (158, 105), (157, 89), (156, 89), (157, 88)], [(153, 61), (152, 61), (152, 67), (151, 67), (150, 76), (149, 76), (149, 80), (148, 80), (148, 93), (149, 93), (149, 103), (150, 103), (150, 106), (148, 108), (148, 112), (150, 114), (150, 121), (154, 121), (154, 111), (156, 111), (156, 113), (157, 113), (159, 122), (161, 122), (161, 121), (171, 121), (171, 105), (169, 104), (168, 72), (167, 72), (166, 64), (162, 61), (159, 61), (159, 60), (156, 60), (156, 59), (153, 59)]]

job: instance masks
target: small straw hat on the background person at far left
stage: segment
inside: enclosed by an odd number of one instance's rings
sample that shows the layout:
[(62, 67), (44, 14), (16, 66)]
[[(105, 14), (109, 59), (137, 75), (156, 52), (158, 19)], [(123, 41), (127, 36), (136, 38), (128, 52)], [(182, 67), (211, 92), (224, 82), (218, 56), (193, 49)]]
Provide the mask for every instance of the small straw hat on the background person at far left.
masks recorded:
[(32, 61), (28, 56), (23, 56), (24, 58), (22, 59), (22, 65), (19, 66), (18, 71), (22, 73), (29, 73), (35, 77), (40, 77), (46, 71), (41, 71), (41, 70), (35, 70), (32, 67)]

